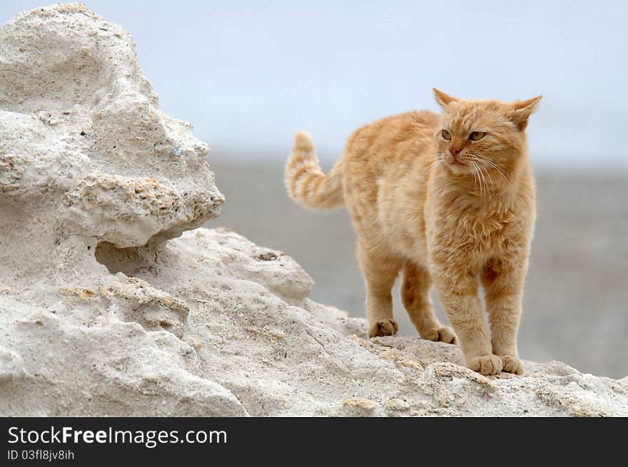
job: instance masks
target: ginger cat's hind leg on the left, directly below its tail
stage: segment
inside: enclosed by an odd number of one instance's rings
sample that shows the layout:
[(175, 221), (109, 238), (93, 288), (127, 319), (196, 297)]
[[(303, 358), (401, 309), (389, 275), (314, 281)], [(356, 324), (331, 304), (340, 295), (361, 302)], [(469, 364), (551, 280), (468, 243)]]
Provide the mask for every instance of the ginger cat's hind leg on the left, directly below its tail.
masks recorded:
[(399, 326), (393, 319), (393, 286), (402, 260), (358, 244), (358, 262), (366, 284), (368, 336), (393, 336)]

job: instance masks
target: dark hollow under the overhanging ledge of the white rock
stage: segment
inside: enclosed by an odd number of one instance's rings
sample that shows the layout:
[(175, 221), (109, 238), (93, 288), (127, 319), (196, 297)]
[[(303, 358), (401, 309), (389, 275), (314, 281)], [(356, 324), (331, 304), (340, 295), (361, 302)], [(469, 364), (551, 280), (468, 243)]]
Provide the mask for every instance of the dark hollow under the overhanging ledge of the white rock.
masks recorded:
[(155, 264), (156, 255), (157, 252), (151, 247), (118, 248), (110, 242), (98, 243), (94, 251), (96, 261), (104, 265), (111, 274), (123, 272), (130, 277), (150, 270)]

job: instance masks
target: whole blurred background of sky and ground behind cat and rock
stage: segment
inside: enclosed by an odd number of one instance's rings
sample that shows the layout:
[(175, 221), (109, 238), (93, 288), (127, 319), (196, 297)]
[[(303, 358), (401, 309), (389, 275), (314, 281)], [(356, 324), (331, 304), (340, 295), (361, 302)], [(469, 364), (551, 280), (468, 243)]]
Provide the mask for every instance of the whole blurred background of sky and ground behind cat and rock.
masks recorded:
[[(543, 94), (528, 130), (538, 217), (520, 354), (628, 374), (627, 2), (85, 3), (131, 32), (164, 111), (211, 145), (227, 202), (207, 226), (295, 257), (314, 299), (355, 316), (365, 294), (347, 213), (308, 212), (285, 195), (295, 130), (314, 135), (328, 170), (355, 128), (437, 111), (432, 86)], [(42, 4), (4, 0), (0, 21)], [(395, 318), (417, 335), (398, 298)]]

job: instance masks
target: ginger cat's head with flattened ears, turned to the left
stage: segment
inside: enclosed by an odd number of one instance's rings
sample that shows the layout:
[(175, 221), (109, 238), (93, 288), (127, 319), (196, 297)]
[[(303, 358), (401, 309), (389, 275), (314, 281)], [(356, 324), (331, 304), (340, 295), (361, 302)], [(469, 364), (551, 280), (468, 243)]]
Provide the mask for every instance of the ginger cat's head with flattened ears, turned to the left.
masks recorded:
[(542, 96), (527, 101), (467, 101), (434, 89), (442, 108), (438, 157), (452, 173), (508, 175), (526, 151), (527, 120)]

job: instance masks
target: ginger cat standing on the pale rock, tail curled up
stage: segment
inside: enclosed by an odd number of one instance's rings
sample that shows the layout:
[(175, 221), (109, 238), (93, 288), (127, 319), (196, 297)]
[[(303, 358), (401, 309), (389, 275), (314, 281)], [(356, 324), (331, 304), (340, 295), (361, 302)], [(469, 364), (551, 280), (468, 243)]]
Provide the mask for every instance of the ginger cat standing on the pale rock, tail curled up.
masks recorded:
[(285, 185), (305, 207), (348, 207), (370, 337), (397, 332), (391, 291), (403, 270), (402, 302), (423, 339), (457, 342), (434, 315), (433, 280), (467, 365), (523, 374), (517, 327), (535, 225), (525, 129), (541, 96), (503, 103), (434, 94), (442, 115), (402, 113), (356, 130), (327, 175), (310, 135), (296, 133)]

